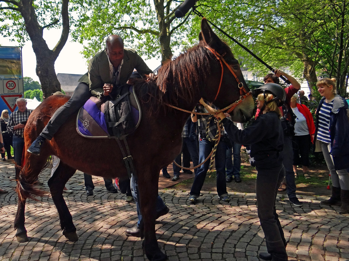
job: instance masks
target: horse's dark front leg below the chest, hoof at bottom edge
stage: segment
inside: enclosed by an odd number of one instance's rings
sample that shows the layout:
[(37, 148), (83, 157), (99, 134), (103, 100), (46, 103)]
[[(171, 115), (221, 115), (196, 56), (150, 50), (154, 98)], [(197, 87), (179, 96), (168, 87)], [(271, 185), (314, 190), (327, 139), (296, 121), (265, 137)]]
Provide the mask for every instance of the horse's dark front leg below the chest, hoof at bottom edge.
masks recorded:
[(155, 236), (156, 198), (158, 195), (159, 169), (151, 169), (138, 175), (141, 213), (144, 231), (144, 250), (151, 261), (167, 260), (161, 252)]

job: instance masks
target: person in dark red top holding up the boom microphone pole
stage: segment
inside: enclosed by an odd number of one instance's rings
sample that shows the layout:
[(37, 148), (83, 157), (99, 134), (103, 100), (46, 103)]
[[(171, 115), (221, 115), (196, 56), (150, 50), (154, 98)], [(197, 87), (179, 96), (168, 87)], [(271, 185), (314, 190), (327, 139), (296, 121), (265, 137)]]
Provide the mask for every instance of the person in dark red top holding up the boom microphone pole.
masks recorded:
[[(285, 167), (285, 177), (284, 180), (281, 183), (281, 186), (279, 188), (279, 191), (285, 191), (287, 189), (287, 195), (289, 198), (289, 201), (297, 206), (302, 206), (302, 203), (298, 200), (296, 197), (296, 183), (295, 183), (295, 175), (293, 171), (293, 147), (292, 147), (292, 135), (294, 134), (294, 126), (291, 126), (291, 129), (287, 126), (285, 126), (285, 122), (289, 121), (292, 122), (292, 110), (290, 109), (290, 103), (291, 103), (291, 97), (298, 92), (300, 88), (300, 84), (297, 82), (295, 78), (288, 75), (287, 73), (281, 71), (281, 70), (275, 70), (275, 74), (269, 73), (267, 74), (263, 81), (265, 84), (267, 83), (275, 83), (280, 84), (280, 76), (284, 76), (287, 80), (290, 81), (291, 85), (287, 88), (285, 88), (286, 92), (286, 100), (285, 104), (282, 107), (279, 107), (282, 117), (282, 126), (284, 128), (284, 149), (280, 153), (283, 157), (283, 165)], [(284, 115), (284, 111), (287, 111), (287, 115)], [(258, 117), (258, 114), (260, 113), (259, 109), (257, 109), (257, 113), (255, 115), (255, 118)]]

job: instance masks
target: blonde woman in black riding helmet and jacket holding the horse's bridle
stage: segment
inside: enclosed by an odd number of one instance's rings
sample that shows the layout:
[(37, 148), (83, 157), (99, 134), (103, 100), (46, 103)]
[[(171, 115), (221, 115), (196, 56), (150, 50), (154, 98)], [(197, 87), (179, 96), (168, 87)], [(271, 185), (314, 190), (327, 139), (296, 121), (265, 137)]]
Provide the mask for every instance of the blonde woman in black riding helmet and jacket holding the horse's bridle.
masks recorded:
[(250, 145), (250, 163), (257, 169), (256, 194), (258, 217), (265, 235), (268, 253), (262, 259), (288, 260), (286, 241), (276, 213), (277, 189), (285, 175), (280, 152), (283, 150), (283, 129), (279, 106), (285, 101), (285, 91), (277, 84), (268, 83), (254, 89), (257, 107), (263, 112), (250, 126), (239, 130), (223, 113), (217, 115), (225, 131), (234, 142)]

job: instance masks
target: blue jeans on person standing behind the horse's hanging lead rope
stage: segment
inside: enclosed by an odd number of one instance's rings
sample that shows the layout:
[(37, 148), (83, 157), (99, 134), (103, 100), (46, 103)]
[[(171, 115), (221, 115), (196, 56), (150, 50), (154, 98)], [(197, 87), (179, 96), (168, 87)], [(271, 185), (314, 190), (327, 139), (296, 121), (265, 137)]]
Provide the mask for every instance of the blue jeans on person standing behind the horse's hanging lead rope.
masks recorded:
[[(211, 150), (214, 147), (214, 142), (208, 140), (199, 141), (199, 164), (202, 163), (208, 155), (210, 155)], [(228, 196), (227, 185), (225, 183), (225, 157), (227, 151), (227, 143), (224, 138), (221, 138), (221, 141), (218, 143), (215, 164), (217, 171), (217, 192), (218, 196), (225, 197)], [(207, 160), (205, 164), (201, 165), (198, 168), (198, 171), (195, 174), (195, 179), (190, 190), (190, 196), (195, 198), (200, 196), (200, 190), (203, 183), (205, 182), (205, 177), (210, 165), (210, 160)]]

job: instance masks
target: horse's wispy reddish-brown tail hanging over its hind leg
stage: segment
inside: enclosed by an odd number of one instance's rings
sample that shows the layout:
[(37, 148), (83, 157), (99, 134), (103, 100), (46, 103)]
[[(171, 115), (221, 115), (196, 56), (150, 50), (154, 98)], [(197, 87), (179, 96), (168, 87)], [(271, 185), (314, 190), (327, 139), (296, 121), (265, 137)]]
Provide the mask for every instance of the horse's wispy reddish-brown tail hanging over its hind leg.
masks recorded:
[[(23, 158), (24, 159), (24, 158)], [(39, 172), (30, 172), (27, 166), (18, 166), (16, 165), (16, 192), (18, 194), (18, 200), (24, 201), (27, 198), (31, 198), (33, 200), (39, 201), (35, 198), (35, 196), (45, 196), (48, 192), (35, 188), (34, 184), (37, 181), (37, 177), (39, 173), (42, 172), (51, 162), (51, 157), (49, 157), (43, 166), (43, 168)]]

